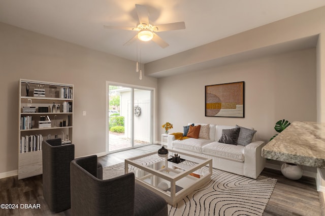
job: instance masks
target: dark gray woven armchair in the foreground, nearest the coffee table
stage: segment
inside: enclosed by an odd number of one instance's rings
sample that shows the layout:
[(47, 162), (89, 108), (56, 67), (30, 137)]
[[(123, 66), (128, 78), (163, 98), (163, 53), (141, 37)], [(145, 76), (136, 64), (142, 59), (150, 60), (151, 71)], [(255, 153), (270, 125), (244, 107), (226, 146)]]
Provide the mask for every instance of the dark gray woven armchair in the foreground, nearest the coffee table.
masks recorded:
[(136, 184), (133, 173), (101, 180), (96, 164), (96, 155), (71, 162), (72, 215), (168, 215), (165, 199)]

